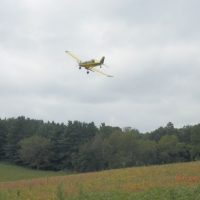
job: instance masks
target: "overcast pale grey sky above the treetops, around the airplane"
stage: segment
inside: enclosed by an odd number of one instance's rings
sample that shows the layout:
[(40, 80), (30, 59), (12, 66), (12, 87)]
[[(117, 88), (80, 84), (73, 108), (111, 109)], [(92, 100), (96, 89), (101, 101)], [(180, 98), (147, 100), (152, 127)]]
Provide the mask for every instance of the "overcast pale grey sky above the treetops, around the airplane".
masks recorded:
[[(0, 118), (152, 131), (200, 123), (199, 0), (0, 0)], [(101, 70), (79, 70), (105, 56)]]

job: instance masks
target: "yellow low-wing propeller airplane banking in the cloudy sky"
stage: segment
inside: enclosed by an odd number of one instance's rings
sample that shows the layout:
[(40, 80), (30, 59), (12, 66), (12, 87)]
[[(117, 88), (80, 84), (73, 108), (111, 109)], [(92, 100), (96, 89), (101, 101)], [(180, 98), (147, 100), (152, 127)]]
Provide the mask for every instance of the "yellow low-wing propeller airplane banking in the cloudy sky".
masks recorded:
[(92, 72), (100, 73), (100, 74), (102, 74), (104, 76), (107, 76), (107, 77), (113, 77), (113, 76), (111, 76), (109, 74), (106, 74), (106, 73), (104, 73), (102, 71), (99, 71), (96, 68), (97, 66), (100, 66), (100, 68), (101, 68), (102, 65), (104, 65), (104, 60), (105, 60), (104, 56), (101, 58), (101, 60), (92, 59), (92, 60), (89, 60), (89, 61), (82, 62), (79, 58), (77, 58), (70, 51), (65, 51), (65, 52), (77, 61), (79, 69), (81, 69), (82, 67), (84, 67), (87, 70), (87, 74), (89, 74), (89, 72), (92, 71)]

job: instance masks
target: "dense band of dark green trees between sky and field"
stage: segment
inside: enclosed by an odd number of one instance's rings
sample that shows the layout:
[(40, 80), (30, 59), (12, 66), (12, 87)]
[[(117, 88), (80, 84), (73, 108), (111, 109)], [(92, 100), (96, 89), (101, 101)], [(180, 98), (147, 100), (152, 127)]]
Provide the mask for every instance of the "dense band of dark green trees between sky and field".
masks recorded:
[(137, 129), (102, 123), (0, 119), (0, 162), (34, 169), (88, 172), (200, 159), (200, 124)]

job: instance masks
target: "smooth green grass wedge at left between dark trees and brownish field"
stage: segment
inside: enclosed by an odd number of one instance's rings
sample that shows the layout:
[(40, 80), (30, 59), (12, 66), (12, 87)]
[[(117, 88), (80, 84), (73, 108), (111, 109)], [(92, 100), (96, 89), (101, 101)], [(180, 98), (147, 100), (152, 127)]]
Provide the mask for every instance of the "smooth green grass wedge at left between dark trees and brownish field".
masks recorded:
[(61, 176), (65, 174), (66, 173), (64, 172), (33, 170), (6, 163), (0, 163), (0, 182), (16, 181), (22, 179), (34, 179), (42, 177), (47, 178), (51, 176)]

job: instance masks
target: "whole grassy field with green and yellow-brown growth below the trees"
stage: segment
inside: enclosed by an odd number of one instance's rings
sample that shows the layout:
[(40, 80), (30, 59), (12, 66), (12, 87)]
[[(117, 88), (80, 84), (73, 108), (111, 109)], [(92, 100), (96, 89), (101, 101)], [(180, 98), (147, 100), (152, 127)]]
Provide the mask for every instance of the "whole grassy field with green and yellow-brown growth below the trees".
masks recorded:
[(73, 175), (26, 170), (0, 164), (0, 200), (200, 199), (199, 161)]

